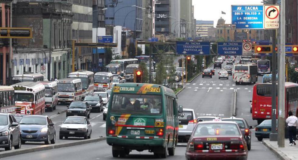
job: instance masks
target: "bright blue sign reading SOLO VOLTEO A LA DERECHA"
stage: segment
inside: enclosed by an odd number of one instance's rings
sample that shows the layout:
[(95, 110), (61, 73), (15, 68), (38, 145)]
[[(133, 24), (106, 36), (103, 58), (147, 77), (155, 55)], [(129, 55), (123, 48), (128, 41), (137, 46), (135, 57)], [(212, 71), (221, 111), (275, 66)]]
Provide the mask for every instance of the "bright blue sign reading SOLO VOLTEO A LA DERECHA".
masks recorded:
[(232, 29), (263, 29), (263, 5), (232, 5)]

